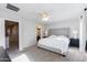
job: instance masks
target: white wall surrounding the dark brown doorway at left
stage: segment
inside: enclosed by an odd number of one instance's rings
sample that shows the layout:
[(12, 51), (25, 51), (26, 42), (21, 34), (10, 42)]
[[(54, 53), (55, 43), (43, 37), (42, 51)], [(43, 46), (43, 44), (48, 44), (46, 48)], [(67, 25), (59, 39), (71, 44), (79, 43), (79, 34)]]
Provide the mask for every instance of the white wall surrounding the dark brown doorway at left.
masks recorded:
[(4, 20), (19, 22), (19, 47), (20, 51), (26, 46), (35, 44), (35, 24), (25, 21), (17, 14), (0, 12), (0, 46), (6, 48)]

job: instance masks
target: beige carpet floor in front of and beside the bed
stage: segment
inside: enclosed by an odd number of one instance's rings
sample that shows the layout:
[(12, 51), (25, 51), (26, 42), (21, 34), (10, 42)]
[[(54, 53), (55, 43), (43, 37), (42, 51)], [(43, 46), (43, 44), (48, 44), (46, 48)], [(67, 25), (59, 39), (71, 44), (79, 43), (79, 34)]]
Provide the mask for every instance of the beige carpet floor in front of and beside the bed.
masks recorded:
[(69, 47), (66, 57), (61, 54), (53, 53), (46, 50), (37, 48), (36, 46), (28, 47), (26, 51), (13, 53), (9, 51), (11, 58), (25, 54), (30, 62), (86, 62), (87, 53), (79, 53), (78, 48)]

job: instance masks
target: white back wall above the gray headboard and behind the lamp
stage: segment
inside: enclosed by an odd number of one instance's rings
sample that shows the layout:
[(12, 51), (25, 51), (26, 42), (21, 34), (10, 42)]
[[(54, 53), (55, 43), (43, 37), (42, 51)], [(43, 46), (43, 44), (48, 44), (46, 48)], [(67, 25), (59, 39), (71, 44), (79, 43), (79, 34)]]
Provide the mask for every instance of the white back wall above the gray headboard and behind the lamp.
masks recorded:
[[(61, 22), (54, 22), (51, 24), (46, 24), (47, 29), (58, 29), (58, 28), (69, 28), (70, 29), (70, 37), (74, 37), (74, 30), (79, 31), (79, 19), (74, 20), (66, 20)], [(77, 37), (79, 37), (79, 33), (77, 34)]]

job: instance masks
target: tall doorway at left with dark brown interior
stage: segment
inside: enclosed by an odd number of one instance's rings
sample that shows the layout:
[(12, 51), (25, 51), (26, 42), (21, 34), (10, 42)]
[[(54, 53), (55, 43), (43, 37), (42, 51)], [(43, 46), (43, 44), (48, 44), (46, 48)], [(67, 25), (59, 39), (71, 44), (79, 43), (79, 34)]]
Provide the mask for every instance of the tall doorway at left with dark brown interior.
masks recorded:
[(19, 22), (4, 21), (6, 48), (19, 50)]

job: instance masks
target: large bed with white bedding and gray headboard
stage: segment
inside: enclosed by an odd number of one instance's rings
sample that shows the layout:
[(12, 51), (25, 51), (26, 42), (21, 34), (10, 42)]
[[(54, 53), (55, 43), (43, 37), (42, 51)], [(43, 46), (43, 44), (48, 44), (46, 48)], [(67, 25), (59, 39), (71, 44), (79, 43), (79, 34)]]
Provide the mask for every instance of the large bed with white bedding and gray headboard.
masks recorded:
[[(63, 32), (63, 30), (65, 31), (65, 33)], [(68, 35), (68, 33), (66, 34), (67, 30), (59, 30), (59, 33), (62, 31), (61, 34), (56, 34), (57, 32), (53, 33), (53, 31), (50, 32), (51, 35), (48, 37), (41, 39), (37, 43), (37, 46), (55, 53), (61, 53), (62, 55), (66, 55), (69, 45), (69, 37), (66, 36)], [(56, 31), (58, 31), (58, 29)]]

